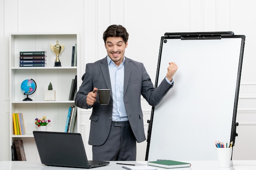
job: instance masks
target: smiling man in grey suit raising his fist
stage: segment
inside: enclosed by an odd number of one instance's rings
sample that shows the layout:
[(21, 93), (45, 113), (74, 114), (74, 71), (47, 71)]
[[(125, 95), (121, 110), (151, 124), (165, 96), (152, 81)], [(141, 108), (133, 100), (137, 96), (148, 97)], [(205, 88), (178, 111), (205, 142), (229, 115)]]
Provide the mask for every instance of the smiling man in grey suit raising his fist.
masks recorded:
[[(166, 77), (154, 88), (144, 65), (124, 56), (128, 36), (121, 25), (106, 29), (103, 40), (108, 55), (86, 64), (76, 94), (76, 106), (92, 108), (88, 143), (92, 145), (93, 160), (135, 161), (136, 141), (146, 140), (140, 96), (156, 106), (173, 86), (177, 65), (169, 62)], [(111, 89), (108, 105), (96, 102), (97, 93), (93, 91), (98, 89)]]

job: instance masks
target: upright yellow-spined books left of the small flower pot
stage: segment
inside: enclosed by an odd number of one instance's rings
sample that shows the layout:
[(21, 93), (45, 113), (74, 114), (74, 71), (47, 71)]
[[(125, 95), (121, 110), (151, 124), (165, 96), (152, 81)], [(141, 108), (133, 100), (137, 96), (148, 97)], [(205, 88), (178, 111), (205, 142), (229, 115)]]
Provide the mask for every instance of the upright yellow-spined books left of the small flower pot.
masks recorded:
[(22, 113), (13, 113), (14, 135), (25, 135), (24, 121)]

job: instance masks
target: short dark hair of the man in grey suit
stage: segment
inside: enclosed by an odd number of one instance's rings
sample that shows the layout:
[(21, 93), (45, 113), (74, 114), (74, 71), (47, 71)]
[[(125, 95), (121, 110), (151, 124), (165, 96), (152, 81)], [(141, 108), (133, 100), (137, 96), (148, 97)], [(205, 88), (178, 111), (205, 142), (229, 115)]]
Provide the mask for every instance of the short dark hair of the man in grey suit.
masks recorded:
[(128, 41), (129, 34), (124, 26), (110, 25), (103, 33), (103, 40), (105, 44), (108, 37), (121, 37), (126, 43)]

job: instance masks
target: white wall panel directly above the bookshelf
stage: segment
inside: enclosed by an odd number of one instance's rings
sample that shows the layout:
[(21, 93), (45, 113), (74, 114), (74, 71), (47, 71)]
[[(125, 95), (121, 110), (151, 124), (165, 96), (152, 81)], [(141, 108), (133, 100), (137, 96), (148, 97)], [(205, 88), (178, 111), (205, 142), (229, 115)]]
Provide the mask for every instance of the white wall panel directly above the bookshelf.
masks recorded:
[(18, 1), (19, 32), (80, 32), (83, 30), (82, 0)]

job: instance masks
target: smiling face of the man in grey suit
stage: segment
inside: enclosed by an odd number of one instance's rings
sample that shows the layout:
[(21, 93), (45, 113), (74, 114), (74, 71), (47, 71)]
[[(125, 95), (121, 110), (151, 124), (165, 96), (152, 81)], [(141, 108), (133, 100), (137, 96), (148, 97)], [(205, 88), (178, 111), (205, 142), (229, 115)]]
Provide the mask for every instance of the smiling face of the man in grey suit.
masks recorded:
[(108, 56), (117, 66), (123, 62), (124, 52), (127, 46), (128, 42), (125, 43), (121, 37), (108, 37), (106, 39), (105, 47)]

